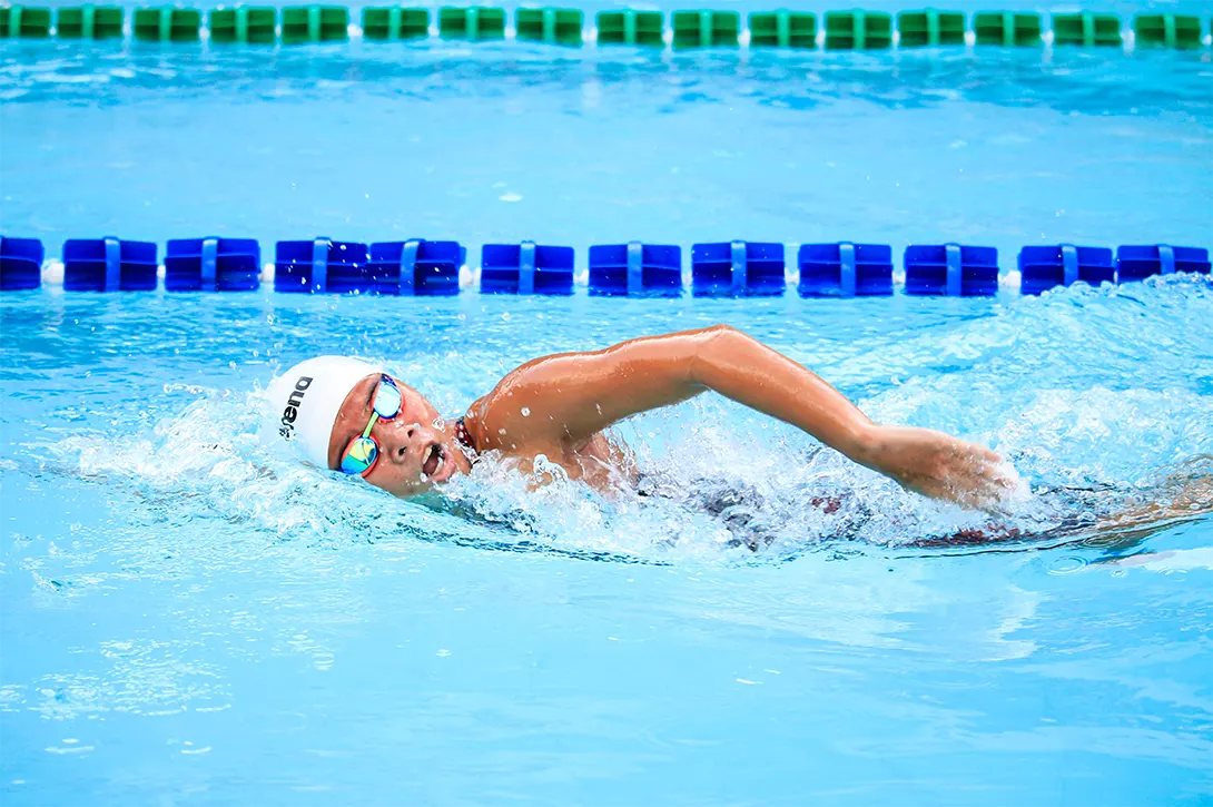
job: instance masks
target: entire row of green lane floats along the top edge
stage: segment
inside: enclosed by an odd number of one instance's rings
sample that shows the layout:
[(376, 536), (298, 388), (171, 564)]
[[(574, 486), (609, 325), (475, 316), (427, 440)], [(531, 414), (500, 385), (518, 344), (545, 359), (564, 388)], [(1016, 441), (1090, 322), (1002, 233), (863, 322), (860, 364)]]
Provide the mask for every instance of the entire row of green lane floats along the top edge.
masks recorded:
[[(0, 0), (2, 2), (4, 0)], [(119, 39), (124, 35), (124, 10), (114, 5), (0, 7), (0, 39), (46, 39), (52, 17), (64, 39)], [(445, 6), (438, 10), (438, 32), (444, 39), (501, 40), (507, 12), (497, 6)], [(599, 11), (598, 44), (664, 47), (665, 17), (660, 11)], [(212, 10), (207, 18), (210, 39), (224, 44), (272, 45), (281, 35), (284, 45), (332, 42), (349, 39), (349, 8), (334, 5), (237, 6)], [(429, 11), (425, 7), (369, 6), (361, 11), (363, 36), (368, 40), (411, 40), (429, 35)], [(1141, 13), (1133, 18), (1135, 41), (1141, 47), (1198, 49), (1205, 45), (1205, 21), (1194, 15)], [(896, 15), (902, 47), (963, 46), (968, 32), (959, 11), (922, 8)], [(818, 42), (818, 17), (788, 10), (756, 11), (747, 18), (752, 47), (811, 50)], [(893, 46), (893, 16), (873, 11), (828, 11), (822, 23), (827, 50), (885, 50)], [(525, 7), (516, 13), (519, 40), (552, 45), (583, 44), (585, 15), (577, 8)], [(1041, 15), (1016, 11), (979, 11), (973, 16), (974, 41), (1003, 47), (1038, 47), (1043, 42)], [(136, 8), (131, 32), (138, 41), (197, 42), (201, 39), (203, 12), (197, 8), (156, 6)], [(1124, 33), (1116, 15), (1076, 12), (1052, 16), (1054, 45), (1083, 47), (1123, 46)], [(741, 15), (735, 11), (676, 11), (671, 34), (676, 49), (738, 47)]]

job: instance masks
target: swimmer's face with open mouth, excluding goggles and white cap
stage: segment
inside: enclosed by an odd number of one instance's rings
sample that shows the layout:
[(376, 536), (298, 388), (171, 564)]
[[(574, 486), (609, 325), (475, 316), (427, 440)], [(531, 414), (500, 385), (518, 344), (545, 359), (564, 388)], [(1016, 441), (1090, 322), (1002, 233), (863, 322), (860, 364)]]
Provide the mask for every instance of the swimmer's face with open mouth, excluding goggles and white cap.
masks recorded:
[[(394, 376), (392, 380), (400, 387), (400, 414), (377, 421), (371, 430), (371, 437), (378, 443), (378, 460), (366, 481), (397, 496), (411, 496), (456, 473), (467, 473), (472, 465), (455, 437), (455, 425), (445, 424), (420, 392)], [(377, 373), (366, 376), (342, 402), (329, 438), (331, 470), (341, 466), (341, 456), (351, 441), (366, 428), (378, 381)]]

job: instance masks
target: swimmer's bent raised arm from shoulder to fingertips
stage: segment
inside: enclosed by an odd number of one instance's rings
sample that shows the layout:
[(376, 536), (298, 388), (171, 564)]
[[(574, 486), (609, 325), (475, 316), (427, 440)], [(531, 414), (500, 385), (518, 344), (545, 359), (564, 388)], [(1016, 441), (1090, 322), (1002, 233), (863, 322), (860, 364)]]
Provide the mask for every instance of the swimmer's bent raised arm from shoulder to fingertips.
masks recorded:
[(712, 390), (791, 424), (918, 493), (990, 507), (998, 456), (922, 428), (878, 426), (816, 374), (727, 325), (536, 359), (468, 411), (486, 448), (575, 447), (608, 426)]

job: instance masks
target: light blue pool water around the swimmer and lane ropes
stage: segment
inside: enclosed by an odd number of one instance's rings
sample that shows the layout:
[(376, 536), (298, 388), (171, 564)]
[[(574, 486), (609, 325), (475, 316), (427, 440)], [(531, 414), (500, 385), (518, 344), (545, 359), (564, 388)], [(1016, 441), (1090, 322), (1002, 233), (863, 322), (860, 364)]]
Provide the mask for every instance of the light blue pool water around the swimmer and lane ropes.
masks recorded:
[[(1208, 52), (0, 47), (0, 233), (1209, 245)], [(1213, 800), (1213, 525), (934, 547), (987, 519), (700, 398), (621, 427), (668, 500), (474, 518), (285, 462), (319, 352), (457, 413), (551, 351), (728, 322), (873, 417), (1006, 454), (1003, 525), (1213, 453), (1213, 288), (1041, 299), (0, 299), (0, 802)], [(704, 479), (710, 478), (710, 483)], [(1094, 493), (1075, 493), (1076, 489)], [(824, 513), (819, 494), (847, 504)]]

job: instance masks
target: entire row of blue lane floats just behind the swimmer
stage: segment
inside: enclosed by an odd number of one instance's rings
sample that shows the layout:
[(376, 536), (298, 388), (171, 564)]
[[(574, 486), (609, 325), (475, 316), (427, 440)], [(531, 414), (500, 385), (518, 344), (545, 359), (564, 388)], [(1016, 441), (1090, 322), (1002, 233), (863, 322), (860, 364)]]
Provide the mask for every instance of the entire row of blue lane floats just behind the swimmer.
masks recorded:
[[(279, 241), (274, 288), (284, 292), (456, 295), (467, 250), (457, 241), (380, 241), (368, 246), (317, 238)], [(41, 285), (39, 239), (0, 237), (0, 291)], [(571, 246), (488, 244), (482, 252), (486, 294), (574, 294)], [(193, 238), (167, 243), (165, 290), (241, 291), (260, 286), (260, 246), (252, 239)], [(68, 291), (153, 290), (156, 245), (118, 238), (72, 239), (63, 245)], [(804, 297), (893, 294), (893, 251), (883, 244), (802, 244), (798, 291)], [(992, 296), (998, 292), (993, 248), (912, 245), (904, 254), (905, 294)], [(1168, 244), (1025, 246), (1020, 291), (1041, 294), (1074, 283), (1128, 283), (1160, 274), (1209, 274), (1209, 251)], [(697, 296), (780, 295), (786, 286), (784, 245), (718, 241), (691, 248)], [(683, 291), (682, 250), (630, 244), (590, 248), (590, 294), (676, 297)]]

